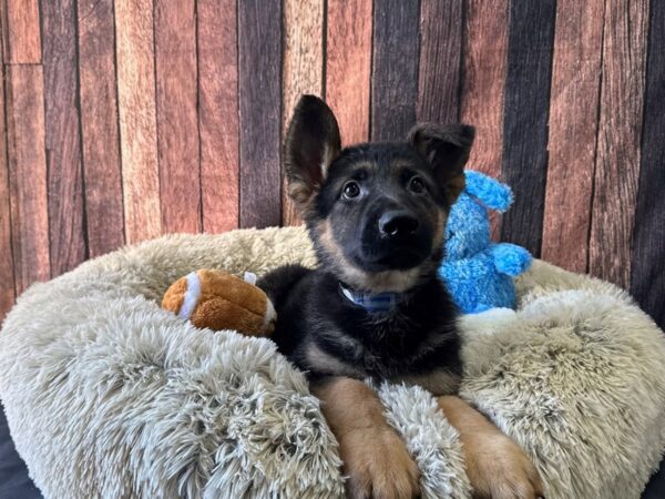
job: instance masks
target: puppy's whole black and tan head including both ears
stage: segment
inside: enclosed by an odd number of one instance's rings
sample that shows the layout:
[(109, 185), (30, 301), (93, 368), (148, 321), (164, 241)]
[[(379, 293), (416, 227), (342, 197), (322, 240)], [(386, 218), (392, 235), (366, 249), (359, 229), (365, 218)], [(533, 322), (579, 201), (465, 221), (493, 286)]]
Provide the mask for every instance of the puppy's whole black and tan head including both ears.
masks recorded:
[(286, 174), (326, 269), (371, 292), (401, 292), (434, 272), (472, 140), (470, 126), (428, 124), (403, 143), (341, 150), (330, 109), (303, 96), (285, 144)]

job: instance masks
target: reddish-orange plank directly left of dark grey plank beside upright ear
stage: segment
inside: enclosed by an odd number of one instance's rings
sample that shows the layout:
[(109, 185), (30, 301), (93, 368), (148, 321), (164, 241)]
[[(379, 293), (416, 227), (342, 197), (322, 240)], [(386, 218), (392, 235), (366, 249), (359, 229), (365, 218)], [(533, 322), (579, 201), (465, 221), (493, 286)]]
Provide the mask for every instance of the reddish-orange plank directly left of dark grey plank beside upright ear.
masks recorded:
[(203, 230), (239, 223), (236, 0), (198, 0), (198, 130)]

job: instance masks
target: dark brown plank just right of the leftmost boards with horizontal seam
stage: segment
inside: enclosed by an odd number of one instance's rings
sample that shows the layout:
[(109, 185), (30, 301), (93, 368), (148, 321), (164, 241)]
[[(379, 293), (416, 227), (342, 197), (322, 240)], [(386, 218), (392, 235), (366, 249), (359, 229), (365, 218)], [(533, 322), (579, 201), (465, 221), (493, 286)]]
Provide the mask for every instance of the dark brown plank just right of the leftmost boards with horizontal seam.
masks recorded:
[(86, 257), (73, 0), (42, 2), (51, 275)]

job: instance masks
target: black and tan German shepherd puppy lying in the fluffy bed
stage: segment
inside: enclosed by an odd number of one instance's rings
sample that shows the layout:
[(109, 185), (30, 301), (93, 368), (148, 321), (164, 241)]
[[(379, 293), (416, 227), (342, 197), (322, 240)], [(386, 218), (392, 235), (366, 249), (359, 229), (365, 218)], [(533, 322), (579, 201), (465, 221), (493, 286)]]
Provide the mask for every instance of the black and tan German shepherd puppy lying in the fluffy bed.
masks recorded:
[(418, 384), (458, 429), (475, 497), (542, 496), (522, 450), (456, 397), (457, 310), (437, 276), (450, 206), (464, 187), (467, 125), (417, 125), (401, 143), (341, 149), (332, 111), (304, 95), (286, 143), (288, 194), (319, 267), (285, 266), (258, 285), (274, 339), (306, 370), (340, 445), (352, 498), (419, 496), (418, 469), (367, 377)]

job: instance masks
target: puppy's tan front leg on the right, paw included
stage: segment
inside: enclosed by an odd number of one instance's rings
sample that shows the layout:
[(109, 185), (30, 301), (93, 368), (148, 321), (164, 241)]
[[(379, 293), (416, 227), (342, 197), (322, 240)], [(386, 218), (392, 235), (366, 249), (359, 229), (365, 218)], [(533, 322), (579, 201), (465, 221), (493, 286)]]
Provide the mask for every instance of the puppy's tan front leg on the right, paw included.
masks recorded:
[(439, 407), (458, 430), (474, 498), (543, 497), (540, 476), (522, 449), (459, 397), (438, 397)]

